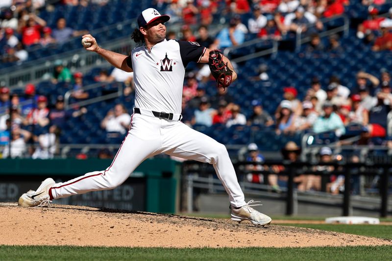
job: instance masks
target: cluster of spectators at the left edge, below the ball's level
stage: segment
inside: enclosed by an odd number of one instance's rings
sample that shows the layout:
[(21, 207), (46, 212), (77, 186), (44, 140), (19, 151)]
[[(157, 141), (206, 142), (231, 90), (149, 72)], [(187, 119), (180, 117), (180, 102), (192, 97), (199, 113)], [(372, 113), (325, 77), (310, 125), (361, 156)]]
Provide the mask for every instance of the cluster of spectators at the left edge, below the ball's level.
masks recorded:
[[(33, 84), (27, 84), (23, 94), (0, 88), (0, 152), (10, 156), (50, 159), (59, 151), (61, 130), (71, 117), (79, 117), (86, 108), (65, 110), (64, 97), (59, 95), (50, 106), (48, 98), (37, 95)], [(10, 141), (10, 142), (9, 142)], [(31, 145), (31, 146), (28, 146)]]

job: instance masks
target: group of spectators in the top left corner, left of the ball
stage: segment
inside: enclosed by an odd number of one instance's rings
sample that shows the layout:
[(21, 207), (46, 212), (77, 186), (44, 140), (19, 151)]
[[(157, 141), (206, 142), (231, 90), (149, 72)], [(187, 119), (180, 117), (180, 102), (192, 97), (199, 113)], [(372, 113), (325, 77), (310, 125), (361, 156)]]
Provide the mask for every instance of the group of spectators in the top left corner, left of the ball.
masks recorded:
[[(89, 1), (63, 1), (54, 4), (83, 5)], [(74, 30), (60, 17), (56, 25), (49, 26), (39, 17), (45, 1), (5, 1), (0, 5), (0, 60), (3, 63), (21, 64), (28, 59), (27, 48), (62, 45), (86, 30)], [(54, 10), (54, 9), (53, 9)]]

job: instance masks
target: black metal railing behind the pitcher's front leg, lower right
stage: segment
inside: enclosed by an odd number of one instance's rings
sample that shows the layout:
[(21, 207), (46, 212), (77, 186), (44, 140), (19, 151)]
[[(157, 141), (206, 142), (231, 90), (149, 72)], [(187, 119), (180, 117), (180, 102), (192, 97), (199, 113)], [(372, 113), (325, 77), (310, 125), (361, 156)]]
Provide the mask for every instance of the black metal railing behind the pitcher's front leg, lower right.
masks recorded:
[[(259, 166), (283, 166), (284, 170), (279, 173), (271, 173), (266, 170), (246, 170), (245, 166), (248, 165), (259, 165)], [(186, 195), (186, 204), (188, 212), (193, 211), (194, 204), (194, 188), (205, 189), (208, 193), (224, 193), (224, 188), (221, 185), (221, 181), (214, 177), (215, 174), (211, 174), (206, 171), (206, 163), (199, 163), (194, 161), (186, 161), (183, 163), (182, 177), (183, 177), (183, 193)], [(353, 199), (360, 202), (368, 202), (369, 204), (364, 206), (361, 203), (356, 204), (356, 208), (368, 210), (368, 211), (379, 211), (381, 217), (386, 217), (391, 211), (388, 210), (388, 206), (391, 202), (388, 201), (389, 187), (388, 184), (391, 178), (391, 164), (376, 164), (376, 163), (344, 163), (344, 162), (285, 162), (285, 161), (268, 161), (264, 163), (260, 162), (239, 162), (234, 164), (237, 176), (239, 177), (240, 186), (245, 194), (252, 194), (261, 197), (269, 197), (275, 199), (281, 199), (286, 201), (286, 214), (296, 214), (296, 206), (298, 201), (304, 201), (317, 205), (332, 205), (340, 206), (342, 208), (342, 214), (348, 216), (353, 211)], [(316, 166), (333, 166), (334, 170), (317, 170)], [(270, 192), (273, 187), (264, 184), (253, 184), (242, 181), (242, 176), (246, 173), (254, 174), (278, 174), (288, 177), (287, 188), (280, 188), (278, 193)], [(195, 173), (195, 174), (192, 174)], [(196, 174), (197, 173), (197, 174)], [(209, 173), (209, 176), (202, 176), (202, 174)], [(318, 175), (321, 177), (321, 188), (322, 191), (304, 191), (300, 192), (294, 188), (294, 177), (296, 175)], [(344, 175), (344, 191), (342, 194), (333, 195), (325, 191), (326, 179), (329, 179), (331, 175)], [(361, 196), (352, 195), (351, 190), (353, 188), (353, 177), (361, 176), (378, 176), (380, 178), (380, 192), (379, 199), (374, 196)], [(265, 179), (266, 180), (266, 179)], [(183, 202), (184, 203), (184, 202)], [(379, 208), (375, 205), (379, 204)]]

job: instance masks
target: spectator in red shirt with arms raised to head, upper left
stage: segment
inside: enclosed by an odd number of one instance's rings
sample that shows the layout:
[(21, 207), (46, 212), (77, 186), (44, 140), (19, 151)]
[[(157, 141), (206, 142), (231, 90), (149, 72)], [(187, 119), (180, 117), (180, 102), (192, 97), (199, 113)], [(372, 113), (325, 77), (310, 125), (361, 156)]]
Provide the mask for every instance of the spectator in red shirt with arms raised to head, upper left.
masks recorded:
[(25, 26), (22, 26), (22, 43), (25, 46), (39, 44), (44, 26), (46, 26), (45, 20), (30, 14)]

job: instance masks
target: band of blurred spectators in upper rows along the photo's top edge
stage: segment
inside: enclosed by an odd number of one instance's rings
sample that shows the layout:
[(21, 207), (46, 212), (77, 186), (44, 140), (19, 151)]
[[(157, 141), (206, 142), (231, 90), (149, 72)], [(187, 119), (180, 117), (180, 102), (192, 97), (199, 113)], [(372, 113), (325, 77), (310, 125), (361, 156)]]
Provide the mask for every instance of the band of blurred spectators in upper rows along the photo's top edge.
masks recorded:
[[(0, 12), (0, 56), (4, 63), (20, 64), (28, 59), (26, 47), (53, 47), (67, 42), (72, 37), (86, 33), (67, 25), (64, 17), (56, 24), (48, 24), (39, 17), (40, 10), (55, 10), (57, 5), (89, 4), (105, 5), (109, 0), (62, 0), (54, 2), (54, 8), (45, 1), (8, 0)], [(368, 2), (363, 2), (369, 5)], [(378, 16), (377, 6), (369, 5), (369, 19), (358, 26), (358, 37), (371, 44), (374, 51), (392, 48), (391, 18)], [(168, 37), (197, 41), (201, 45), (224, 49), (242, 44), (248, 38), (281, 40), (301, 32), (311, 36), (307, 51), (340, 51), (339, 37), (330, 38), (330, 45), (324, 47), (318, 34), (325, 29), (323, 18), (342, 15), (349, 0), (160, 0), (157, 8), (171, 16), (169, 23), (182, 23), (179, 33), (168, 32)], [(392, 15), (392, 8), (390, 9)], [(224, 18), (222, 20), (222, 18)], [(208, 35), (208, 26), (224, 23), (226, 27), (216, 35)], [(192, 28), (200, 26), (197, 31)]]

